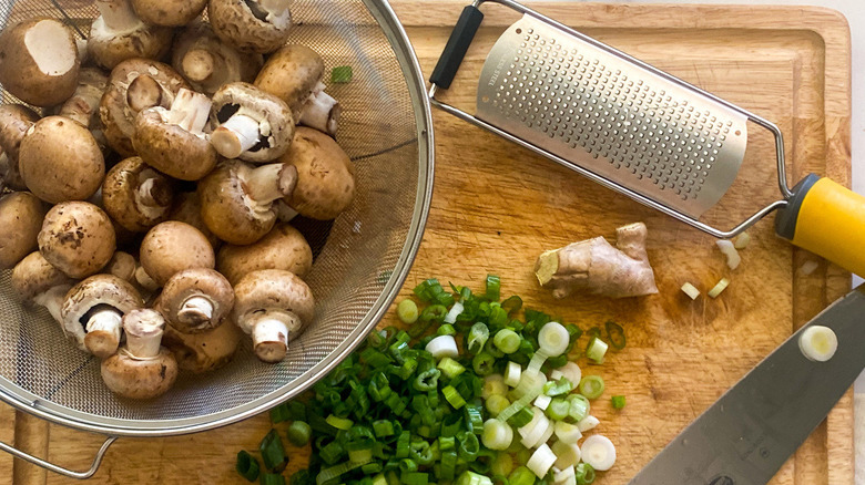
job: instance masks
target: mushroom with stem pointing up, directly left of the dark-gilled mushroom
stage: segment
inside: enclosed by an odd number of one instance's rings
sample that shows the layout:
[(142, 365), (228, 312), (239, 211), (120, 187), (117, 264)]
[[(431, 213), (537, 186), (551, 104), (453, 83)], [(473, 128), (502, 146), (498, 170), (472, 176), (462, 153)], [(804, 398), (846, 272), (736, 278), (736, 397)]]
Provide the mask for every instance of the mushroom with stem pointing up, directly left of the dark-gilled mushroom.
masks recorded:
[(204, 134), (210, 113), (207, 96), (181, 89), (171, 110), (155, 106), (139, 113), (132, 146), (153, 168), (197, 180), (216, 166), (216, 151)]

